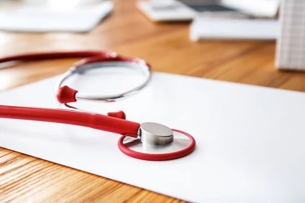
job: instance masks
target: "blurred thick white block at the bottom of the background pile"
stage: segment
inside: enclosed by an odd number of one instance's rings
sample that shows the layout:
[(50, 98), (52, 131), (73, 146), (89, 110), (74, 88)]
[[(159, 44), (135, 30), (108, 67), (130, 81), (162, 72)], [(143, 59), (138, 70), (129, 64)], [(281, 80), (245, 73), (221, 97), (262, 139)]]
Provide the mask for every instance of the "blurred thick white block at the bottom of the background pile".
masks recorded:
[(278, 21), (273, 19), (231, 19), (198, 16), (190, 27), (191, 40), (258, 39), (276, 40)]

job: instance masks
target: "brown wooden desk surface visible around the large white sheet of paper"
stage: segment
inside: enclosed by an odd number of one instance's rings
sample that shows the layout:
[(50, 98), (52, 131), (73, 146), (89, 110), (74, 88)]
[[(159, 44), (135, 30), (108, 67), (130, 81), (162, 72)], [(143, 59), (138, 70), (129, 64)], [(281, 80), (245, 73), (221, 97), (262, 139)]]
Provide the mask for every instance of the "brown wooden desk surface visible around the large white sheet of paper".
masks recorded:
[[(305, 74), (274, 68), (275, 42), (189, 40), (187, 23), (153, 23), (132, 1), (89, 33), (0, 32), (0, 56), (54, 50), (113, 50), (141, 57), (153, 71), (305, 91)], [(23, 62), (0, 70), (0, 91), (65, 72), (78, 59)], [(0, 142), (1, 143), (1, 142)], [(0, 148), (0, 202), (179, 202)]]

